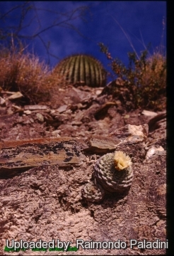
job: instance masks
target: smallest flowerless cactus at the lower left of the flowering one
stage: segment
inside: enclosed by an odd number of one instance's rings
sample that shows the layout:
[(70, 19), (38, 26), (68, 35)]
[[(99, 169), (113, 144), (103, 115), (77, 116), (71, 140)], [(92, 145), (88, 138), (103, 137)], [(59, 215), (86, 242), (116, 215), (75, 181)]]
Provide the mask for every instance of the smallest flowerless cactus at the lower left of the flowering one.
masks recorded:
[(104, 189), (98, 183), (93, 183), (93, 181), (83, 186), (81, 193), (83, 198), (86, 198), (86, 201), (89, 202), (100, 202), (105, 196)]

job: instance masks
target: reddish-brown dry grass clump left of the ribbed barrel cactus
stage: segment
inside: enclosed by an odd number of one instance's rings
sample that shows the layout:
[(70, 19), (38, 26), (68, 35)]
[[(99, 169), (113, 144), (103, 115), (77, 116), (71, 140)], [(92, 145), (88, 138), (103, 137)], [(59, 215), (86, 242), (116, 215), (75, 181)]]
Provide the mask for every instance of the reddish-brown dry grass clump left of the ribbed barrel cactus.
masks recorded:
[(0, 65), (0, 86), (4, 90), (20, 91), (31, 104), (50, 100), (58, 85), (64, 82), (35, 55), (24, 53), (24, 48), (1, 50)]

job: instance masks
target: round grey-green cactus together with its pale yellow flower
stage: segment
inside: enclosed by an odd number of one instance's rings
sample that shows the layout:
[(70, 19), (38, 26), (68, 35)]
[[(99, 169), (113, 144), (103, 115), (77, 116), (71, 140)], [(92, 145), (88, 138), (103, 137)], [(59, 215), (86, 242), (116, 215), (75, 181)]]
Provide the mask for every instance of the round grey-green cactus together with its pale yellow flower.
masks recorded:
[(100, 157), (94, 166), (96, 180), (111, 192), (123, 192), (132, 183), (132, 162), (122, 151)]

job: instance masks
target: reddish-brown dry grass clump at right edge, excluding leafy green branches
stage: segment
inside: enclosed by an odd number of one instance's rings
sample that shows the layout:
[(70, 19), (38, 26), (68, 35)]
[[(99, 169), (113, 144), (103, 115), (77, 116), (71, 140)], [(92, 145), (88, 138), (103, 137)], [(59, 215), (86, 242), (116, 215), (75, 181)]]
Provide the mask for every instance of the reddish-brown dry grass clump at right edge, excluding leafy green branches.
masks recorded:
[(154, 110), (166, 108), (166, 57), (156, 52), (146, 58), (146, 65), (137, 75), (139, 85), (137, 92), (141, 95), (142, 107)]

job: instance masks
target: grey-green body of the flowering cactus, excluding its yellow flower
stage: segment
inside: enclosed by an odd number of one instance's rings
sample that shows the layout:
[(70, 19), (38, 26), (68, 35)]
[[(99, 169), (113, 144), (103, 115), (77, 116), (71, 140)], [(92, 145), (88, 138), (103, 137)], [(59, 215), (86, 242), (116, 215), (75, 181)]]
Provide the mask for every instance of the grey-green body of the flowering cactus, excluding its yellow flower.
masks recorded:
[(100, 157), (94, 167), (94, 176), (105, 190), (123, 192), (132, 183), (132, 166), (118, 171), (115, 168), (114, 156), (115, 154), (108, 153)]

